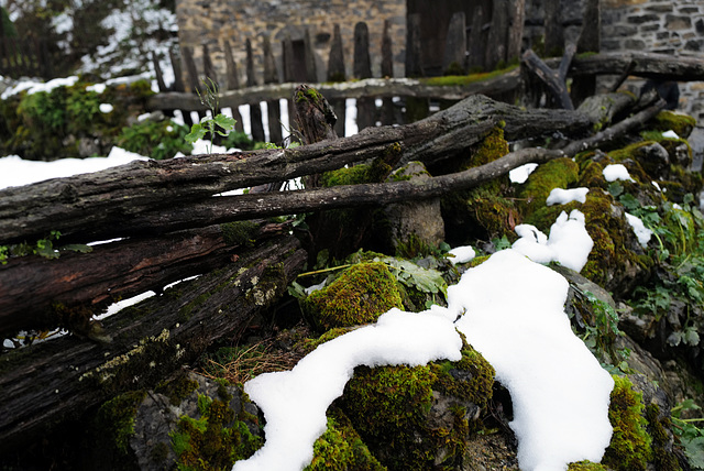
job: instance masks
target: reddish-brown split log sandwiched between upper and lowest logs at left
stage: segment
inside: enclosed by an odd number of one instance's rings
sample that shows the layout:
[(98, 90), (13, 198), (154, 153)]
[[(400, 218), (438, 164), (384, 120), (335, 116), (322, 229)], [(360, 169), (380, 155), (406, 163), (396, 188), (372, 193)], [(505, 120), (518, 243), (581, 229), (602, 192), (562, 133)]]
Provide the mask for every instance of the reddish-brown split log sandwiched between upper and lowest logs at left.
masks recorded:
[(58, 260), (11, 258), (0, 266), (0, 338), (59, 327), (90, 337), (90, 317), (110, 303), (218, 270), (252, 240), (263, 242), (286, 227), (246, 221), (100, 244)]

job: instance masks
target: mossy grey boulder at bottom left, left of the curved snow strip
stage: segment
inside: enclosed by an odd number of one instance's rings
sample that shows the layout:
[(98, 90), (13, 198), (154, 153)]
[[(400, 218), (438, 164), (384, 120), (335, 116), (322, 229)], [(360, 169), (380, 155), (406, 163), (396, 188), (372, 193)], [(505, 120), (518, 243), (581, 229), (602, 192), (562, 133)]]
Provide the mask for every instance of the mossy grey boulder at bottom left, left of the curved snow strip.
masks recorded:
[(230, 469), (264, 442), (258, 409), (240, 387), (195, 373), (127, 393), (97, 414), (98, 469)]

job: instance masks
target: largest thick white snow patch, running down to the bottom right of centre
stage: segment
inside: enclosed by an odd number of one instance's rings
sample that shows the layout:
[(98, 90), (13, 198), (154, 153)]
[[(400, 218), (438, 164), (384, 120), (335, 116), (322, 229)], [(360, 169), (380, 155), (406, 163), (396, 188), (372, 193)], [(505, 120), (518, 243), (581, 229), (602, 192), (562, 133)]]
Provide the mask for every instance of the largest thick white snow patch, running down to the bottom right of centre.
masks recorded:
[(449, 288), (468, 341), (512, 395), (521, 470), (598, 462), (612, 436), (610, 375), (572, 333), (568, 282), (515, 250), (492, 255)]

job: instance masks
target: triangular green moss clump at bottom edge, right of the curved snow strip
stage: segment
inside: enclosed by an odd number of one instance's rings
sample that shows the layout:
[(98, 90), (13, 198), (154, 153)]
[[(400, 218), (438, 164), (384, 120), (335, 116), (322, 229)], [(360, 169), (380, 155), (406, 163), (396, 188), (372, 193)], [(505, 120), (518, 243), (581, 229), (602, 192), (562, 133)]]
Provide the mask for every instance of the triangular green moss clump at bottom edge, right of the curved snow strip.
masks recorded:
[(328, 428), (314, 443), (314, 457), (306, 471), (385, 471), (354, 430), (350, 419), (332, 408)]

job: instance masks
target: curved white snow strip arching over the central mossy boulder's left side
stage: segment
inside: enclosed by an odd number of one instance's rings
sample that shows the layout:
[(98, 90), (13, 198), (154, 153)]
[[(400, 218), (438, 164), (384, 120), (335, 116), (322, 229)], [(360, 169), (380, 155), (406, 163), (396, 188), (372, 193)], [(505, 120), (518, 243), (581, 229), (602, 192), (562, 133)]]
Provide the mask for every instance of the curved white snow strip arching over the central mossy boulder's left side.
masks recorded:
[(342, 395), (354, 366), (420, 365), (462, 358), (462, 340), (444, 316), (398, 309), (375, 325), (338, 337), (305, 357), (292, 371), (265, 373), (244, 384), (264, 412), (264, 446), (233, 471), (301, 470), (312, 460), (312, 445), (324, 432), (326, 410)]

